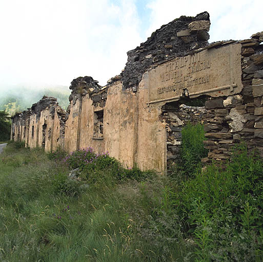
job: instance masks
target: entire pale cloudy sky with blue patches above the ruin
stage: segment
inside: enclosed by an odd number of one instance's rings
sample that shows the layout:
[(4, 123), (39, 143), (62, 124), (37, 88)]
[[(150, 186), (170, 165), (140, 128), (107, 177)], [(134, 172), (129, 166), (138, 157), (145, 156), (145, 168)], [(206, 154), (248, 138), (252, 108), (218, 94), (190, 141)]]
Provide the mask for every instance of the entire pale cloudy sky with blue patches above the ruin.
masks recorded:
[(0, 92), (78, 76), (105, 85), (127, 51), (181, 15), (208, 11), (213, 42), (263, 31), (262, 10), (262, 0), (0, 0)]

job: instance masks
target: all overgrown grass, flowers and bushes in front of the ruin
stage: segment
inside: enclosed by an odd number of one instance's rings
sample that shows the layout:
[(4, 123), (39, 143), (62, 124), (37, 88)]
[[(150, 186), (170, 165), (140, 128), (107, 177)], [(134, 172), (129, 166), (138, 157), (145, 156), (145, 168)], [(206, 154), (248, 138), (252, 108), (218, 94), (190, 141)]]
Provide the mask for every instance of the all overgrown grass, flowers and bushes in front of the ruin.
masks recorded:
[[(240, 144), (224, 169), (202, 171), (205, 152), (193, 142), (204, 134), (191, 128), (181, 151), (192, 148), (191, 169), (169, 177), (92, 148), (45, 154), (9, 144), (0, 157), (0, 260), (262, 261), (262, 160)], [(80, 181), (68, 176), (76, 168)]]

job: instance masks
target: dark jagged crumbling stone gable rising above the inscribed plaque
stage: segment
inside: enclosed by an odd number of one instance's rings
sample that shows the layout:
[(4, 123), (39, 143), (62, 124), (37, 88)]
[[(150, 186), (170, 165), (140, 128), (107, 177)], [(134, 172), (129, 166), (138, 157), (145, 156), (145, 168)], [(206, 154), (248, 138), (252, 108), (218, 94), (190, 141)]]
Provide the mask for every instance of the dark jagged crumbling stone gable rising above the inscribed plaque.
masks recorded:
[[(127, 52), (128, 61), (120, 74), (123, 88), (136, 92), (141, 77), (150, 67), (207, 46), (209, 29), (209, 13), (203, 12), (195, 17), (180, 16), (153, 32), (146, 42)], [(112, 79), (117, 80), (118, 76)]]

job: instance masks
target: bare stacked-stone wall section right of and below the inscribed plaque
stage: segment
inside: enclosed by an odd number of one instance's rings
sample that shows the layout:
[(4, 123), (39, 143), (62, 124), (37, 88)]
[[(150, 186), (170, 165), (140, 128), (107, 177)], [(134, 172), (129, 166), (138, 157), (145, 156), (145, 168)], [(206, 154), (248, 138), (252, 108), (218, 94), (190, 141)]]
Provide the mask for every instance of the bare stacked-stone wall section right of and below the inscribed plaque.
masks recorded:
[(263, 157), (263, 46), (262, 33), (252, 35), (241, 43), (241, 68), (243, 89), (240, 94), (210, 98), (206, 102), (208, 115), (205, 120), (209, 159), (228, 159), (231, 146), (245, 141), (250, 149), (257, 148)]

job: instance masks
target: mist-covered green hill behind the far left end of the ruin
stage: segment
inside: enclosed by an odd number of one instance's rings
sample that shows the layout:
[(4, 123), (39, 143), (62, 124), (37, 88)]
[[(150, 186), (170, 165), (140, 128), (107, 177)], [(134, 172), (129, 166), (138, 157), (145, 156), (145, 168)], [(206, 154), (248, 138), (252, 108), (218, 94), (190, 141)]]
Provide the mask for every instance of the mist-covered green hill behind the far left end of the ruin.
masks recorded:
[(66, 109), (69, 105), (71, 91), (65, 85), (15, 85), (5, 86), (0, 92), (0, 110), (5, 110), (10, 116), (31, 107), (44, 95), (57, 98), (58, 104)]

